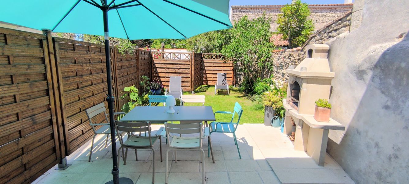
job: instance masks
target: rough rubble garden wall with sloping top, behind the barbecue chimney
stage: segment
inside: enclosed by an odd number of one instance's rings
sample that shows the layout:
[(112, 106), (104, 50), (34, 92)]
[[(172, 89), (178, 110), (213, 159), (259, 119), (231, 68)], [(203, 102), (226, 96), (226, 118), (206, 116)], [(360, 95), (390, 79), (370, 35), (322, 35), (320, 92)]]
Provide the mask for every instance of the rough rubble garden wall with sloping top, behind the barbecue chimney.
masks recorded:
[(290, 65), (297, 66), (305, 58), (304, 48), (307, 45), (327, 43), (336, 39), (340, 34), (349, 32), (351, 13), (352, 11), (348, 11), (341, 17), (336, 18), (333, 22), (322, 27), (320, 30), (312, 34), (302, 47), (274, 50), (272, 54), (274, 69), (272, 72), (270, 71), (270, 73), (274, 74), (276, 80), (287, 82), (288, 74), (285, 72), (285, 69)]

